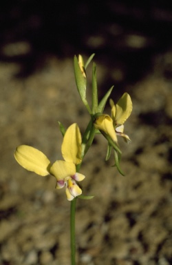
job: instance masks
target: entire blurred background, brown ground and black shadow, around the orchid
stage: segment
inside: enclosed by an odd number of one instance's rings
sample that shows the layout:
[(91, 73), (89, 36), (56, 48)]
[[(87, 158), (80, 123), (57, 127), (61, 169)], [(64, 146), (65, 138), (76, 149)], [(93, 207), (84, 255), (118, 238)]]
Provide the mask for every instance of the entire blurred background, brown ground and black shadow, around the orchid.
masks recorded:
[[(69, 264), (69, 202), (53, 177), (14, 161), (20, 144), (61, 159), (62, 136), (89, 122), (73, 58), (96, 53), (101, 99), (114, 85), (133, 112), (119, 140), (125, 177), (96, 137), (85, 157), (76, 235), (80, 265), (172, 263), (172, 6), (170, 1), (4, 1), (0, 8), (0, 264)], [(87, 72), (91, 98), (92, 66)], [(105, 110), (110, 114), (107, 104)]]

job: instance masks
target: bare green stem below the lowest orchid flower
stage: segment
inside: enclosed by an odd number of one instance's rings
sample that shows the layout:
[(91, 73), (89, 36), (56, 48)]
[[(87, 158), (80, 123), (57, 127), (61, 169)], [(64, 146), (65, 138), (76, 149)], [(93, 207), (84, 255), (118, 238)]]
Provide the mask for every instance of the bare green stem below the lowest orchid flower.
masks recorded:
[(72, 199), (70, 206), (70, 244), (71, 244), (71, 265), (75, 265), (76, 242), (75, 242), (75, 208), (76, 198)]

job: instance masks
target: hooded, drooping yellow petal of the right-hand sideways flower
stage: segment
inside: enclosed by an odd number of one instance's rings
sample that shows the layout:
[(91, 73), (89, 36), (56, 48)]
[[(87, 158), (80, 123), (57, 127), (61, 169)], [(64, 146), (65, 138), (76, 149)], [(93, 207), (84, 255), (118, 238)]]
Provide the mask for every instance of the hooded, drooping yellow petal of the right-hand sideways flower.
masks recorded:
[(113, 120), (109, 115), (102, 114), (94, 121), (94, 126), (98, 130), (103, 130), (107, 135), (117, 142), (116, 132), (113, 126)]

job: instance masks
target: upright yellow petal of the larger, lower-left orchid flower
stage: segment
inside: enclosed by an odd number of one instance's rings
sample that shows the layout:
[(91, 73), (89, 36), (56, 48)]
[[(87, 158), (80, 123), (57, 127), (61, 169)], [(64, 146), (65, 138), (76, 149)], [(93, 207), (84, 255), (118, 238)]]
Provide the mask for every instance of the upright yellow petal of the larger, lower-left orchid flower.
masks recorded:
[(80, 164), (81, 162), (81, 135), (77, 124), (72, 124), (67, 128), (63, 143), (61, 146), (61, 153), (67, 162)]

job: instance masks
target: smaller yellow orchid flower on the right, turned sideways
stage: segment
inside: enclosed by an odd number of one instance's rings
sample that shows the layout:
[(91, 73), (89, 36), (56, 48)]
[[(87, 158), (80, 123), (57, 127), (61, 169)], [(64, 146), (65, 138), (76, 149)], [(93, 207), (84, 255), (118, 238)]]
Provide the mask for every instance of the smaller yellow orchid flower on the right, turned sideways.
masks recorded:
[(109, 115), (101, 114), (94, 121), (94, 126), (98, 130), (103, 130), (107, 135), (117, 142), (116, 135), (120, 135), (125, 139), (125, 141), (131, 141), (128, 135), (124, 132), (124, 123), (131, 115), (132, 111), (132, 101), (131, 97), (127, 92), (125, 92), (122, 97), (118, 100), (115, 105), (114, 101), (110, 99), (111, 105), (111, 117)]

